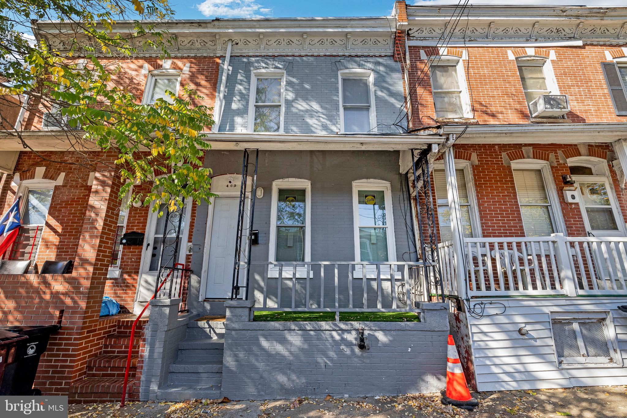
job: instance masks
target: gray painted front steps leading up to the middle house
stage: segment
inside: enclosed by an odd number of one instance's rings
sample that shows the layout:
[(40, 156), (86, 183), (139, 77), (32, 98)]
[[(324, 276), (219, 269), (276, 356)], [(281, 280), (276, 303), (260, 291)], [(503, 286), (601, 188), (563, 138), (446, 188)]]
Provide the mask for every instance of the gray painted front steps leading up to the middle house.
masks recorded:
[(216, 399), (222, 383), (224, 320), (190, 321), (159, 400)]

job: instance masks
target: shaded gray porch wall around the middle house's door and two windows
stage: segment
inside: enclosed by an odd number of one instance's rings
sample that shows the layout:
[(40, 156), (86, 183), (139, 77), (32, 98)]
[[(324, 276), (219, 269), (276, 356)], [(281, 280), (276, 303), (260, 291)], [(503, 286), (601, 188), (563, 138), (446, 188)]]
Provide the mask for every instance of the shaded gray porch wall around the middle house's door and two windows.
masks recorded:
[[(242, 156), (241, 151), (209, 150), (205, 165), (211, 167), (214, 175), (240, 173)], [(411, 224), (411, 214), (407, 199), (403, 201), (401, 196), (399, 153), (335, 150), (260, 151), (257, 187), (263, 187), (264, 195), (255, 203), (254, 229), (260, 232), (260, 244), (253, 246), (253, 262), (268, 261), (272, 182), (285, 178), (312, 182), (312, 261), (354, 261), (352, 182), (360, 179), (380, 179), (391, 183), (397, 261), (416, 260), (415, 253), (404, 254), (414, 249), (413, 244), (408, 243), (406, 231), (406, 222)], [(198, 244), (196, 248), (204, 249), (207, 210), (207, 204), (198, 207), (193, 238), (193, 243)], [(191, 268), (196, 274), (201, 274), (202, 251), (193, 254)], [(198, 286), (196, 289), (194, 286), (192, 283), (191, 299), (197, 301), (198, 295), (194, 294)], [(191, 302), (196, 305), (196, 302)]]

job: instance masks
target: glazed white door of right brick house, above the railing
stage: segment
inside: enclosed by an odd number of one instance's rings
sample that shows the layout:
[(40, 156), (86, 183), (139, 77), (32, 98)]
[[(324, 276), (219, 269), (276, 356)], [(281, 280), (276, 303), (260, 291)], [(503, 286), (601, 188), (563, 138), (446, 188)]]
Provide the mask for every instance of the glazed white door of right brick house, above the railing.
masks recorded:
[(596, 237), (624, 236), (625, 224), (608, 177), (574, 175), (572, 179), (576, 181), (586, 232)]

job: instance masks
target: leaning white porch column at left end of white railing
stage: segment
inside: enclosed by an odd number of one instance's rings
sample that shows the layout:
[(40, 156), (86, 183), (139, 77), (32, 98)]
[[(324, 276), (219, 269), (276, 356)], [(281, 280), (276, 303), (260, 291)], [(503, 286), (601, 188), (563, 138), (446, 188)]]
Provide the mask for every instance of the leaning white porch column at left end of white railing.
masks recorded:
[(457, 293), (460, 298), (466, 298), (466, 280), (468, 279), (466, 278), (464, 240), (463, 233), (461, 232), (460, 197), (457, 191), (453, 147), (449, 147), (449, 149), (444, 152), (444, 172), (446, 177), (446, 192), (448, 194), (448, 207), (451, 214), (451, 229), (453, 231), (453, 266), (455, 267)]

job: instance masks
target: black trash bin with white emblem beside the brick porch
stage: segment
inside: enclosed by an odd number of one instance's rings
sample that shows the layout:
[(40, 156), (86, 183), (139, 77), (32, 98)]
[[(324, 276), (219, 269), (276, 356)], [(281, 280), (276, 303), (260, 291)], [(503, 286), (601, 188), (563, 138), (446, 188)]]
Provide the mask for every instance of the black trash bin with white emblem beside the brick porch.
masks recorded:
[(26, 338), (17, 342), (15, 362), (4, 368), (0, 395), (41, 395), (41, 390), (33, 389), (37, 367), (41, 355), (48, 347), (50, 335), (60, 328), (60, 325), (4, 328)]

